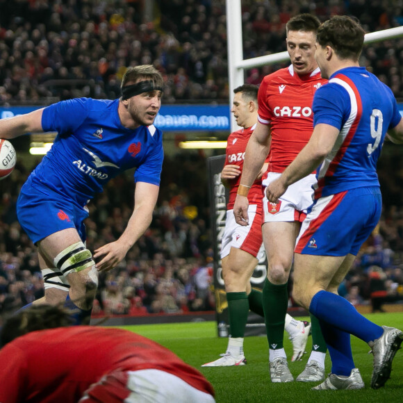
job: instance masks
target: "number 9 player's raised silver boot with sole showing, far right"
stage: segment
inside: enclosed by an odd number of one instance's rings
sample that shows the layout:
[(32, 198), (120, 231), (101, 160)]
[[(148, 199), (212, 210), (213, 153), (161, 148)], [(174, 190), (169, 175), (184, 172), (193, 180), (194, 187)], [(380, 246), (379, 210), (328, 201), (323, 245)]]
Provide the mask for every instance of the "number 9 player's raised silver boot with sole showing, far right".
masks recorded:
[(374, 354), (374, 370), (372, 371), (371, 388), (378, 389), (384, 386), (390, 378), (392, 361), (403, 341), (403, 332), (395, 327), (382, 326), (384, 333), (368, 345)]

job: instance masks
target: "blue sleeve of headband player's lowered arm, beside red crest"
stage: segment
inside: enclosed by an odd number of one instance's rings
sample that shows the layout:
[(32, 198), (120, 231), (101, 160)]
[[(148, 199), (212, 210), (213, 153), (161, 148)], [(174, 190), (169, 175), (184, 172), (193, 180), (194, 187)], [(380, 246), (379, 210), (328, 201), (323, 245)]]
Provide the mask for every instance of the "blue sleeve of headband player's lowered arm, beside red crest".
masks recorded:
[(134, 180), (135, 182), (146, 182), (159, 186), (163, 168), (164, 150), (161, 131), (157, 129), (155, 135), (155, 147), (147, 154), (144, 163), (135, 170)]

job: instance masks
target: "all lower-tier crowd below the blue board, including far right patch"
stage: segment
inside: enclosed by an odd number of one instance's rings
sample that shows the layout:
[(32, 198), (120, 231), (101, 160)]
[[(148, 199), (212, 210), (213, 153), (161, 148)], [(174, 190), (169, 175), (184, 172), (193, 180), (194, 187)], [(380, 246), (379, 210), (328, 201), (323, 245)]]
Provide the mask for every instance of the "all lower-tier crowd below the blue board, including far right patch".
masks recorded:
[[(15, 214), (27, 174), (18, 164), (12, 175), (0, 181), (0, 314), (43, 295), (35, 247)], [(372, 304), (372, 311), (403, 302), (403, 158), (393, 145), (384, 146), (379, 178), (384, 213), (339, 289), (352, 304)], [(215, 309), (207, 188), (203, 155), (165, 156), (151, 227), (115, 270), (101, 274), (94, 315)], [(94, 251), (120, 235), (133, 208), (133, 189), (132, 172), (128, 172), (110, 181), (89, 204), (88, 249)]]

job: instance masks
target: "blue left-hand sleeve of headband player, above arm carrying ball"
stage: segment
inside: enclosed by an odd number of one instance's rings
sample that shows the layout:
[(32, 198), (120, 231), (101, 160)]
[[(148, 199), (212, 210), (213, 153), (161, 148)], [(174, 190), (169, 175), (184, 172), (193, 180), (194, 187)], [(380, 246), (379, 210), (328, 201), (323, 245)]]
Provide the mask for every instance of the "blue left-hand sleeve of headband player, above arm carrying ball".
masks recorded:
[(47, 106), (42, 113), (43, 131), (72, 133), (88, 116), (91, 104), (90, 98), (76, 98)]

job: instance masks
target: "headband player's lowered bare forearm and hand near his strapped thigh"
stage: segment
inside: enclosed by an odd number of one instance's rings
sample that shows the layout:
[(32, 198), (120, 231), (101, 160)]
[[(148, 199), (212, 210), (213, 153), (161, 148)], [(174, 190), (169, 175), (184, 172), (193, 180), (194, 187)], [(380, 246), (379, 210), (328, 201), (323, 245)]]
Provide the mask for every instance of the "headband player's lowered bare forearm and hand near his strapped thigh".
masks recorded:
[(99, 272), (108, 272), (124, 259), (129, 249), (151, 224), (154, 207), (158, 199), (159, 186), (137, 182), (134, 193), (134, 210), (122, 236), (95, 250), (94, 258), (101, 258), (95, 265)]

